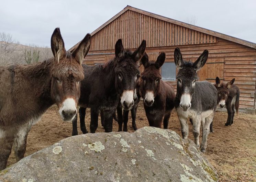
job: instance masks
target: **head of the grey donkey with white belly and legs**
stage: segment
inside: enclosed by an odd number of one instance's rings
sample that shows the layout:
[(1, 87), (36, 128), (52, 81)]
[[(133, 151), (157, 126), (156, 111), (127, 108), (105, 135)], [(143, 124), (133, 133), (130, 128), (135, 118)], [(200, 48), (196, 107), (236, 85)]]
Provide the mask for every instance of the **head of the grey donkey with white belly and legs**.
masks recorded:
[(196, 80), (198, 80), (197, 71), (200, 70), (208, 58), (208, 50), (199, 56), (196, 62), (183, 61), (180, 49), (174, 51), (174, 61), (179, 69), (177, 74), (177, 96), (180, 99), (180, 107), (187, 111), (191, 107), (192, 96), (195, 92)]

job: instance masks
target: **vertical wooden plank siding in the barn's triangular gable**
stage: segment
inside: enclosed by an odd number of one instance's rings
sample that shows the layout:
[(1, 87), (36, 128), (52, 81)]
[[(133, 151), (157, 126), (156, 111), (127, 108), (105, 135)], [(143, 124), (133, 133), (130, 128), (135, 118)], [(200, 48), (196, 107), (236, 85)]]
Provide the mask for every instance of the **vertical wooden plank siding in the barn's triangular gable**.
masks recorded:
[[(200, 36), (195, 38), (195, 35)], [(208, 41), (203, 37), (208, 37)], [(123, 39), (124, 48), (136, 48), (143, 39), (146, 40), (147, 47), (207, 44), (218, 41), (214, 36), (207, 36), (198, 31), (127, 10), (91, 37), (90, 51), (113, 50), (119, 38)], [(98, 40), (102, 39), (103, 43), (99, 44)]]

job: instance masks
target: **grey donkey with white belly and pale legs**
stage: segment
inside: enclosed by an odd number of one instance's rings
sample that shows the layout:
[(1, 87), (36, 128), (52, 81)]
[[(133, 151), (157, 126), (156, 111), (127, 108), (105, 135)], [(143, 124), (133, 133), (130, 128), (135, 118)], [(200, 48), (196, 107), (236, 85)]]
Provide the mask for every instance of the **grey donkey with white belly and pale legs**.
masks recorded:
[(177, 74), (177, 93), (175, 108), (181, 125), (182, 138), (188, 138), (188, 118), (193, 120), (194, 142), (199, 147), (200, 124), (203, 128), (201, 151), (207, 146), (209, 127), (217, 106), (217, 89), (208, 81), (197, 81), (197, 71), (208, 58), (208, 50), (199, 56), (196, 62), (183, 61), (179, 48), (174, 51)]

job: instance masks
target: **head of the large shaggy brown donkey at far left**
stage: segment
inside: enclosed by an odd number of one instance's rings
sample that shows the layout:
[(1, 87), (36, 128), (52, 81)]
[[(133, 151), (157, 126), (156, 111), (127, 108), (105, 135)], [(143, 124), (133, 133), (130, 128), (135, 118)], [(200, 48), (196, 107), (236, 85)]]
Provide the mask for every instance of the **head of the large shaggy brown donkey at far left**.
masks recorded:
[(84, 79), (81, 64), (89, 51), (90, 37), (90, 34), (87, 34), (73, 53), (66, 51), (59, 28), (54, 30), (51, 38), (54, 56), (50, 73), (52, 76), (51, 97), (58, 105), (63, 121), (72, 121), (77, 113), (80, 81)]

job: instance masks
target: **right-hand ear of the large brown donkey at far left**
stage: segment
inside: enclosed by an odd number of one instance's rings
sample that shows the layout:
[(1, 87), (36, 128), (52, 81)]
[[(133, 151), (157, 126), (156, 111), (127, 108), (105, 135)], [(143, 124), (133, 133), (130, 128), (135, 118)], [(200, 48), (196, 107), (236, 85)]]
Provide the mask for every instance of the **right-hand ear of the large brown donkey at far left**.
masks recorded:
[(82, 62), (89, 52), (91, 46), (91, 34), (86, 34), (85, 38), (82, 39), (78, 47), (73, 51), (73, 56), (82, 65)]

